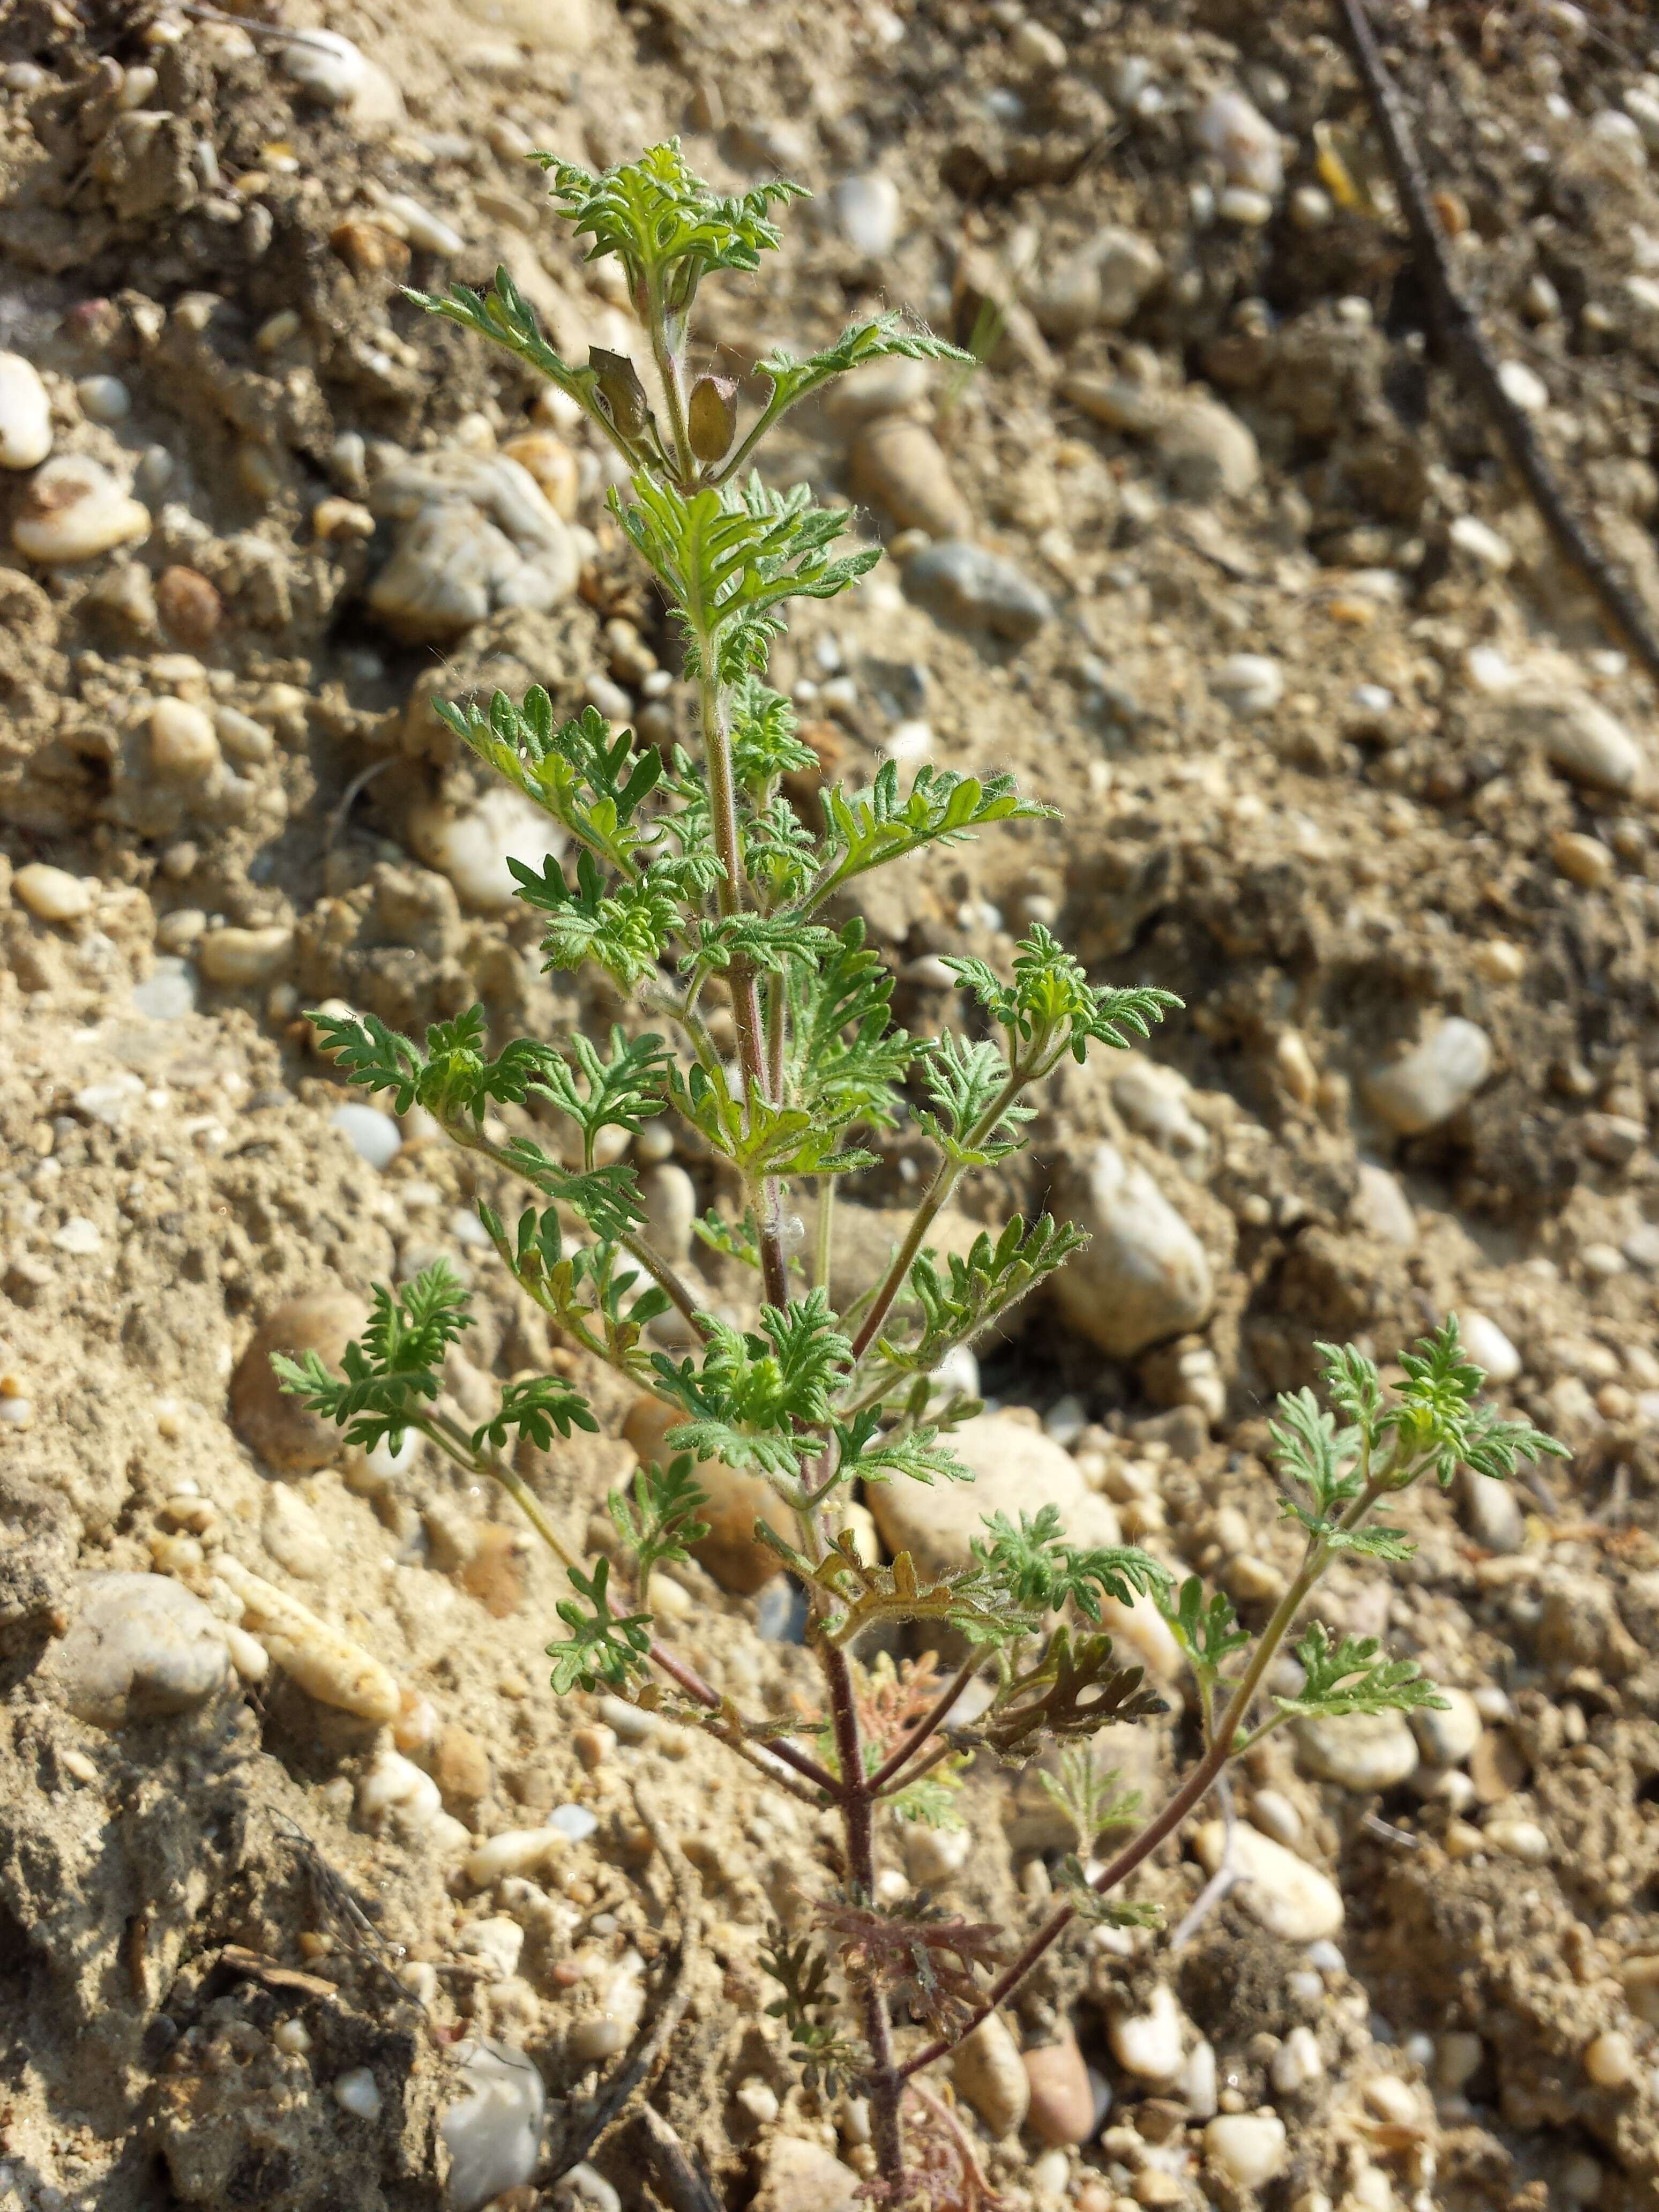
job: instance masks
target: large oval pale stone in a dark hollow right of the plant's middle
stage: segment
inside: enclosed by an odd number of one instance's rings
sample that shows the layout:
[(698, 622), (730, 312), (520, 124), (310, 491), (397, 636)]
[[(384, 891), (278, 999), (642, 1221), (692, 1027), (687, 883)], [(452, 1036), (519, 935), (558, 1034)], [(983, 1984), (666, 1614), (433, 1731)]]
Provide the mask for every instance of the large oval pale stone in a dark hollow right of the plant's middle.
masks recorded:
[(1088, 1232), (1053, 1279), (1064, 1318), (1113, 1358), (1199, 1329), (1214, 1305), (1203, 1245), (1146, 1168), (1099, 1144), (1064, 1177), (1062, 1210)]

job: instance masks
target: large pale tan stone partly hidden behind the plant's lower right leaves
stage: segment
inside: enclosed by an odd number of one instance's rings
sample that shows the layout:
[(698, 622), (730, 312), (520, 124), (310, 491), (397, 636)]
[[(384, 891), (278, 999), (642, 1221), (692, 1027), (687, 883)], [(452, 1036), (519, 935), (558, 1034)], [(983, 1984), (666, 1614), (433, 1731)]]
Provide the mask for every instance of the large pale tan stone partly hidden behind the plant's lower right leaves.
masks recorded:
[(1084, 1482), (1077, 1462), (1042, 1429), (1006, 1413), (975, 1413), (951, 1431), (951, 1449), (973, 1469), (973, 1482), (878, 1482), (869, 1489), (869, 1511), (889, 1551), (909, 1551), (927, 1575), (962, 1568), (969, 1544), (984, 1535), (984, 1515), (1057, 1506), (1073, 1544), (1115, 1544), (1117, 1515)]

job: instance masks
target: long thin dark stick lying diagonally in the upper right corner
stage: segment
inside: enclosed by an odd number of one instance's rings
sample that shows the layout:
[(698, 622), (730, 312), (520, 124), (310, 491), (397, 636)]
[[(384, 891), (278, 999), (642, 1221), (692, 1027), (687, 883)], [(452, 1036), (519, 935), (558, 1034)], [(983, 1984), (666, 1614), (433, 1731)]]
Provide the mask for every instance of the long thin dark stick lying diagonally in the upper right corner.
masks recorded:
[(1568, 566), (1573, 566), (1588, 584), (1615, 630), (1619, 630), (1635, 657), (1659, 684), (1659, 626), (1641, 606), (1626, 580), (1613, 568), (1613, 562), (1595, 544), (1584, 524), (1568, 511), (1562, 489), (1555, 482), (1555, 471), (1551, 469), (1542, 445), (1533, 436), (1531, 422), (1504, 392), (1498, 363), (1493, 361), (1491, 347), (1482, 336), (1480, 319), (1451, 276), (1444, 252), (1444, 234), (1429, 195), (1429, 179), (1422, 173), (1422, 161), (1418, 159), (1411, 135), (1411, 117), (1405, 100), (1400, 97), (1400, 88), (1383, 62), (1363, 0), (1336, 0), (1336, 15), (1347, 33), (1354, 66), (1358, 69), (1360, 84), (1365, 86), (1365, 97), (1371, 104), (1389, 175), (1394, 177), (1394, 190), (1400, 195), (1400, 208), (1405, 210), (1407, 228), (1411, 232), (1418, 276), (1429, 292), (1436, 323), (1447, 341), (1453, 367), (1495, 422), (1509, 458), (1515, 465), (1515, 473), (1526, 484), (1533, 507), (1537, 507), (1544, 518), (1544, 524)]

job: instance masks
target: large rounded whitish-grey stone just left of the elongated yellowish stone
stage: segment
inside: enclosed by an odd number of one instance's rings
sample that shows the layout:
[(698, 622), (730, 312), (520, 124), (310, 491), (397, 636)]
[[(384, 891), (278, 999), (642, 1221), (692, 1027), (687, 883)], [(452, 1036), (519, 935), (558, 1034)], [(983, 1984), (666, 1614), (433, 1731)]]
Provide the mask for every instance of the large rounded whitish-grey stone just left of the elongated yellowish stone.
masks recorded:
[(80, 1615), (51, 1648), (46, 1674), (77, 1719), (97, 1728), (190, 1712), (228, 1672), (219, 1621), (166, 1575), (88, 1575)]

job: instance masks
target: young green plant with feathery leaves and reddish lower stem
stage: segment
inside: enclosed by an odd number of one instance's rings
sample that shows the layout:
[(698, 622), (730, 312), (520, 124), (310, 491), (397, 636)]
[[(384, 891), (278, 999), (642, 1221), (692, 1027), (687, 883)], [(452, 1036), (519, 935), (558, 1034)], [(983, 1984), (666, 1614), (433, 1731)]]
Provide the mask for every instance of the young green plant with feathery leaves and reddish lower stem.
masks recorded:
[[(787, 699), (765, 684), (783, 608), (847, 591), (880, 555), (847, 542), (847, 513), (816, 507), (807, 487), (774, 491), (748, 465), (790, 407), (865, 363), (964, 356), (883, 314), (825, 352), (763, 356), (759, 407), (741, 427), (737, 389), (690, 369), (688, 316), (703, 279), (752, 272), (779, 243), (774, 219), (799, 188), (717, 197), (672, 144), (599, 177), (553, 155), (535, 159), (588, 259), (622, 263), (650, 385), (622, 354), (595, 349), (584, 367), (562, 361), (504, 270), (487, 294), (458, 285), (447, 299), (414, 296), (535, 367), (622, 456), (628, 482), (611, 509), (679, 630), (701, 750), (664, 757), (630, 730), (613, 732), (593, 708), (560, 721), (540, 688), (440, 708), (451, 732), (564, 834), (566, 858), (509, 865), (518, 896), (544, 918), (546, 967), (602, 969), (626, 1002), (604, 1044), (573, 1033), (491, 1048), (482, 1009), (434, 1024), (422, 1044), (367, 1013), (312, 1020), (356, 1084), (389, 1093), (400, 1113), (427, 1108), (526, 1188), (515, 1221), (480, 1206), (502, 1265), (566, 1343), (666, 1402), (668, 1458), (639, 1467), (611, 1498), (615, 1546), (580, 1557), (515, 1460), (522, 1444), (549, 1449), (555, 1436), (593, 1429), (595, 1416), (568, 1378), (551, 1374), (509, 1383), (489, 1420), (465, 1425), (445, 1398), (442, 1360), (469, 1327), (469, 1305), (442, 1263), (376, 1292), (343, 1374), (314, 1354), (279, 1369), (354, 1444), (396, 1444), (416, 1431), (518, 1500), (568, 1575), (571, 1595), (557, 1604), (564, 1632), (551, 1646), (560, 1694), (604, 1690), (697, 1723), (779, 1790), (834, 1812), (838, 1887), (807, 1933), (779, 1933), (772, 2011), (810, 2081), (869, 2101), (885, 2201), (929, 2201), (951, 2159), (971, 2152), (947, 2108), (907, 2084), (1009, 2000), (1077, 1916), (1146, 1918), (1117, 1891), (1230, 1759), (1294, 1717), (1436, 1701), (1409, 1661), (1385, 1661), (1369, 1641), (1332, 1639), (1316, 1621), (1296, 1635), (1325, 1566), (1338, 1555), (1405, 1557), (1409, 1544), (1374, 1511), (1425, 1473), (1447, 1482), (1469, 1464), (1506, 1475), (1517, 1458), (1555, 1447), (1480, 1402), (1482, 1376), (1451, 1321), (1402, 1356), (1391, 1396), (1369, 1360), (1321, 1347), (1340, 1427), (1307, 1391), (1281, 1400), (1283, 1511), (1305, 1551), (1256, 1635), (1225, 1597), (1197, 1582), (1177, 1586), (1150, 1553), (1071, 1542), (1053, 1509), (1018, 1524), (991, 1515), (951, 1573), (929, 1575), (909, 1553), (872, 1564), (860, 1551), (847, 1511), (860, 1489), (969, 1480), (951, 1431), (978, 1405), (940, 1389), (936, 1371), (1082, 1243), (1044, 1214), (940, 1259), (929, 1243), (940, 1210), (962, 1177), (1020, 1150), (1031, 1093), (1064, 1057), (1128, 1046), (1177, 1002), (1091, 984), (1033, 927), (1006, 973), (949, 962), (975, 1009), (971, 1033), (918, 1040), (894, 1024), (891, 971), (843, 894), (872, 869), (1051, 810), (1020, 796), (1009, 776), (920, 768), (905, 785), (891, 763), (865, 790), (830, 787), (814, 821), (792, 805), (785, 779), (818, 763)], [(730, 1009), (734, 1062), (717, 1042), (717, 1000)], [(703, 1232), (757, 1274), (748, 1325), (708, 1312), (697, 1283), (653, 1245), (635, 1170), (615, 1157), (615, 1133), (633, 1137), (659, 1115), (688, 1124), (741, 1192), (734, 1219), (710, 1214)], [(836, 1183), (876, 1166), (869, 1139), (907, 1117), (933, 1150), (933, 1175), (889, 1265), (838, 1307)], [(542, 1144), (549, 1124), (560, 1139)], [(794, 1234), (803, 1188), (816, 1192), (810, 1254)], [(670, 1314), (672, 1334), (657, 1329)], [(697, 1469), (710, 1462), (763, 1478), (787, 1509), (790, 1535), (757, 1522), (754, 1537), (807, 1595), (807, 1644), (825, 1686), (818, 1717), (741, 1714), (653, 1619), (653, 1571), (684, 1562), (708, 1533)], [(1199, 1750), (1150, 1816), (1088, 1756), (1106, 1723), (1164, 1710), (1104, 1632), (1104, 1599), (1161, 1606), (1197, 1683)], [(931, 1659), (867, 1661), (860, 1644), (878, 1626), (920, 1626), (964, 1657), (945, 1679)], [(1285, 1648), (1298, 1690), (1267, 1697)], [(1272, 1681), (1279, 1690), (1279, 1672)], [(1064, 1900), (1024, 1947), (1009, 1955), (1000, 1929), (927, 1896), (887, 1902), (878, 1851), (894, 1823), (956, 1823), (960, 1772), (975, 1752), (1024, 1765), (1053, 1747), (1060, 1770), (1046, 1778), (1082, 1851), (1108, 1829), (1130, 1834), (1093, 1876), (1068, 1863)]]

